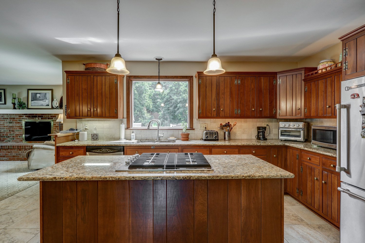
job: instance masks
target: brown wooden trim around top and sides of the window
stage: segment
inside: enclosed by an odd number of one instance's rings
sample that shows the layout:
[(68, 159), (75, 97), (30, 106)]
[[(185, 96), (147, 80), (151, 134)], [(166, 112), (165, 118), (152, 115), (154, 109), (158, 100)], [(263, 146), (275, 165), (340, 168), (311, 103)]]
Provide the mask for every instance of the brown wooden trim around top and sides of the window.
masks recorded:
[[(127, 76), (127, 129), (131, 128), (131, 104), (132, 104), (132, 81), (149, 81), (158, 80), (158, 76)], [(193, 128), (193, 76), (160, 76), (160, 81), (176, 80), (188, 81), (189, 83), (189, 100), (188, 100), (188, 119), (189, 128)]]

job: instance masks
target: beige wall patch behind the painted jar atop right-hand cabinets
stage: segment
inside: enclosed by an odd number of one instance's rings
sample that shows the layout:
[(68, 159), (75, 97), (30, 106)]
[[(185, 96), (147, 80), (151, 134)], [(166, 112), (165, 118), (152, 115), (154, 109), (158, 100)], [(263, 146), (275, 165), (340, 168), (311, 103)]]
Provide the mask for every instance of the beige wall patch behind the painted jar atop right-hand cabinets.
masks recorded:
[(342, 52), (342, 43), (338, 42), (336, 45), (328, 47), (319, 53), (310, 57), (306, 57), (298, 62), (298, 67), (316, 67), (319, 61), (323, 59), (333, 59), (335, 63), (339, 62), (339, 57)]

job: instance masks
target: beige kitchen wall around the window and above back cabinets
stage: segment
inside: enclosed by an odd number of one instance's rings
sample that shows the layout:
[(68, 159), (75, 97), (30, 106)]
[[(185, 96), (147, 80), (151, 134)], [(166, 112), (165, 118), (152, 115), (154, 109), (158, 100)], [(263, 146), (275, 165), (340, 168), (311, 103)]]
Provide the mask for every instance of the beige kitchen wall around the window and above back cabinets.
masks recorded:
[[(89, 61), (64, 61), (62, 62), (62, 70), (84, 70), (82, 63)], [(107, 61), (92, 61), (100, 63), (110, 63)], [(223, 62), (223, 68), (226, 71), (242, 71), (242, 72), (277, 72), (286, 69), (297, 68), (297, 62)], [(157, 62), (126, 62), (127, 69), (130, 71), (128, 75), (157, 75)], [(197, 71), (204, 71), (207, 68), (207, 62), (164, 62), (160, 64), (161, 75), (177, 75), (177, 76), (195, 76)], [(63, 93), (66, 97), (66, 74), (63, 72)], [(124, 78), (126, 80), (126, 78)], [(195, 78), (194, 78), (195, 80)], [(126, 83), (124, 82), (124, 111), (126, 105)], [(196, 97), (196, 87), (194, 82), (194, 96)], [(194, 100), (194, 117), (195, 106)], [(124, 114), (125, 115), (125, 114)], [(64, 128), (76, 127), (76, 119), (64, 119)]]

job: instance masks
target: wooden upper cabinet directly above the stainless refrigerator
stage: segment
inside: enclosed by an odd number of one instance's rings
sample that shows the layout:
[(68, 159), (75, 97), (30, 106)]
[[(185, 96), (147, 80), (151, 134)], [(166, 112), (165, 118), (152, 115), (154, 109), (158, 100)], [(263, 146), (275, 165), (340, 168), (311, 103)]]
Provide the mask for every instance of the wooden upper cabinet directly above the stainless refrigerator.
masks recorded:
[(365, 24), (338, 39), (343, 49), (343, 80), (365, 76)]

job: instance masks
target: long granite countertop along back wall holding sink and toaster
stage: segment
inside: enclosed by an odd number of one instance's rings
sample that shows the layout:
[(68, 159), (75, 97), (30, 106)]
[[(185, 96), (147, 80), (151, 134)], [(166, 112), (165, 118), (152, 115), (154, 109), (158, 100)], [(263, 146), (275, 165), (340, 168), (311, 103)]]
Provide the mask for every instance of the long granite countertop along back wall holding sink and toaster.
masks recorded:
[(256, 139), (231, 139), (230, 141), (203, 141), (203, 140), (189, 140), (181, 141), (175, 140), (174, 143), (164, 144), (134, 144), (136, 140), (96, 140), (96, 141), (78, 141), (78, 142), (66, 142), (57, 144), (57, 146), (291, 146), (300, 148), (307, 151), (312, 151), (319, 154), (329, 155), (336, 157), (336, 150), (332, 148), (314, 147), (310, 142), (287, 142), (280, 139), (268, 139), (266, 141), (260, 141)]

